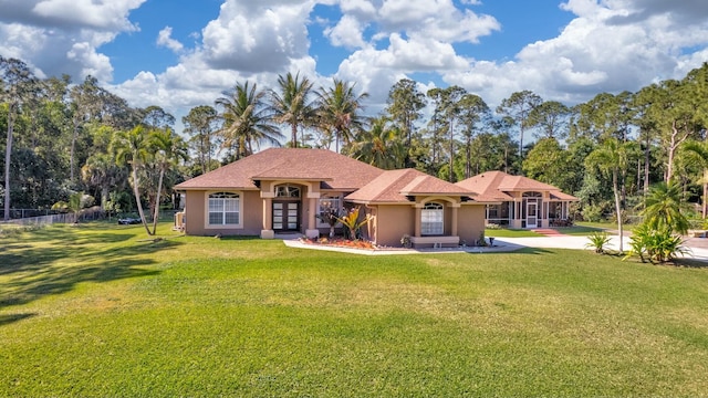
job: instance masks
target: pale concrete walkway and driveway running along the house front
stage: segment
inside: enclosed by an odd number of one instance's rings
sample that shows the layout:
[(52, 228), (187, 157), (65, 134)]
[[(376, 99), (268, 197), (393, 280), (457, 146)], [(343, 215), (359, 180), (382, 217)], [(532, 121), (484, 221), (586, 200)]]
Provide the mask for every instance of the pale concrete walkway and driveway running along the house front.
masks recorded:
[[(309, 244), (299, 239), (287, 239), (283, 243), (290, 248), (301, 248), (311, 250), (337, 251), (343, 253), (362, 254), (362, 255), (391, 255), (391, 254), (430, 254), (430, 253), (499, 253), (511, 252), (522, 248), (539, 249), (573, 249), (573, 250), (593, 250), (587, 248), (587, 237), (577, 235), (558, 235), (558, 237), (533, 237), (533, 238), (494, 238), (494, 245), (491, 248), (442, 248), (442, 249), (400, 249), (400, 248), (379, 248), (375, 250), (339, 248), (320, 244)], [(685, 255), (687, 259), (708, 262), (708, 244), (698, 242), (691, 244), (691, 240), (686, 241), (689, 252)], [(708, 242), (707, 242), (708, 243)], [(701, 247), (702, 245), (702, 247)], [(623, 249), (629, 250), (629, 237), (624, 237)], [(607, 249), (620, 250), (620, 237), (611, 235)]]

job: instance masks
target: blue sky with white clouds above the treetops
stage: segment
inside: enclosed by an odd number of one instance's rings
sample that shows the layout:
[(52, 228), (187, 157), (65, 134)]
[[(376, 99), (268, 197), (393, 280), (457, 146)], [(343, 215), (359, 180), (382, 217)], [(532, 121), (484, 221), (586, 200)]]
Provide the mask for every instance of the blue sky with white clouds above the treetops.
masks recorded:
[(0, 0), (0, 54), (86, 74), (178, 118), (246, 80), (457, 84), (494, 107), (531, 90), (573, 105), (708, 61), (705, 0)]

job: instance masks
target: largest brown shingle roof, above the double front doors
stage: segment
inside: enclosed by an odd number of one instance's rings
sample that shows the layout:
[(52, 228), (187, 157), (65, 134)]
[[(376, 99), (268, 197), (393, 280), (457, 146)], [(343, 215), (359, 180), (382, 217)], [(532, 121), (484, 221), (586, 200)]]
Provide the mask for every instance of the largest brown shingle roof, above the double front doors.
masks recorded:
[(326, 149), (270, 148), (177, 185), (176, 189), (257, 189), (254, 180), (322, 181), (355, 190), (384, 170)]

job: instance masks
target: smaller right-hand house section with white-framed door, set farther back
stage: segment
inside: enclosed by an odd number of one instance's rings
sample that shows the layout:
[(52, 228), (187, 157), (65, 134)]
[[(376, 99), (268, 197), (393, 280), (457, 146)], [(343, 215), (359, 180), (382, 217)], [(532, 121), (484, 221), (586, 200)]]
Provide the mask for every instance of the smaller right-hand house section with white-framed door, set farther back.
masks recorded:
[(485, 214), (487, 223), (511, 228), (568, 226), (569, 205), (579, 200), (551, 185), (503, 171), (486, 171), (457, 185), (490, 202)]

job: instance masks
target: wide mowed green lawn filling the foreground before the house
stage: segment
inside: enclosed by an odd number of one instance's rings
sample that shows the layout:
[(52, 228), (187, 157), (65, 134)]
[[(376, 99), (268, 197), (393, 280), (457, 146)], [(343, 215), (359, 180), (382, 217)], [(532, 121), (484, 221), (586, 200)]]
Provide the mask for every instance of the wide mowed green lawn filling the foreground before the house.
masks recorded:
[(0, 396), (708, 395), (708, 269), (160, 233), (3, 238)]

